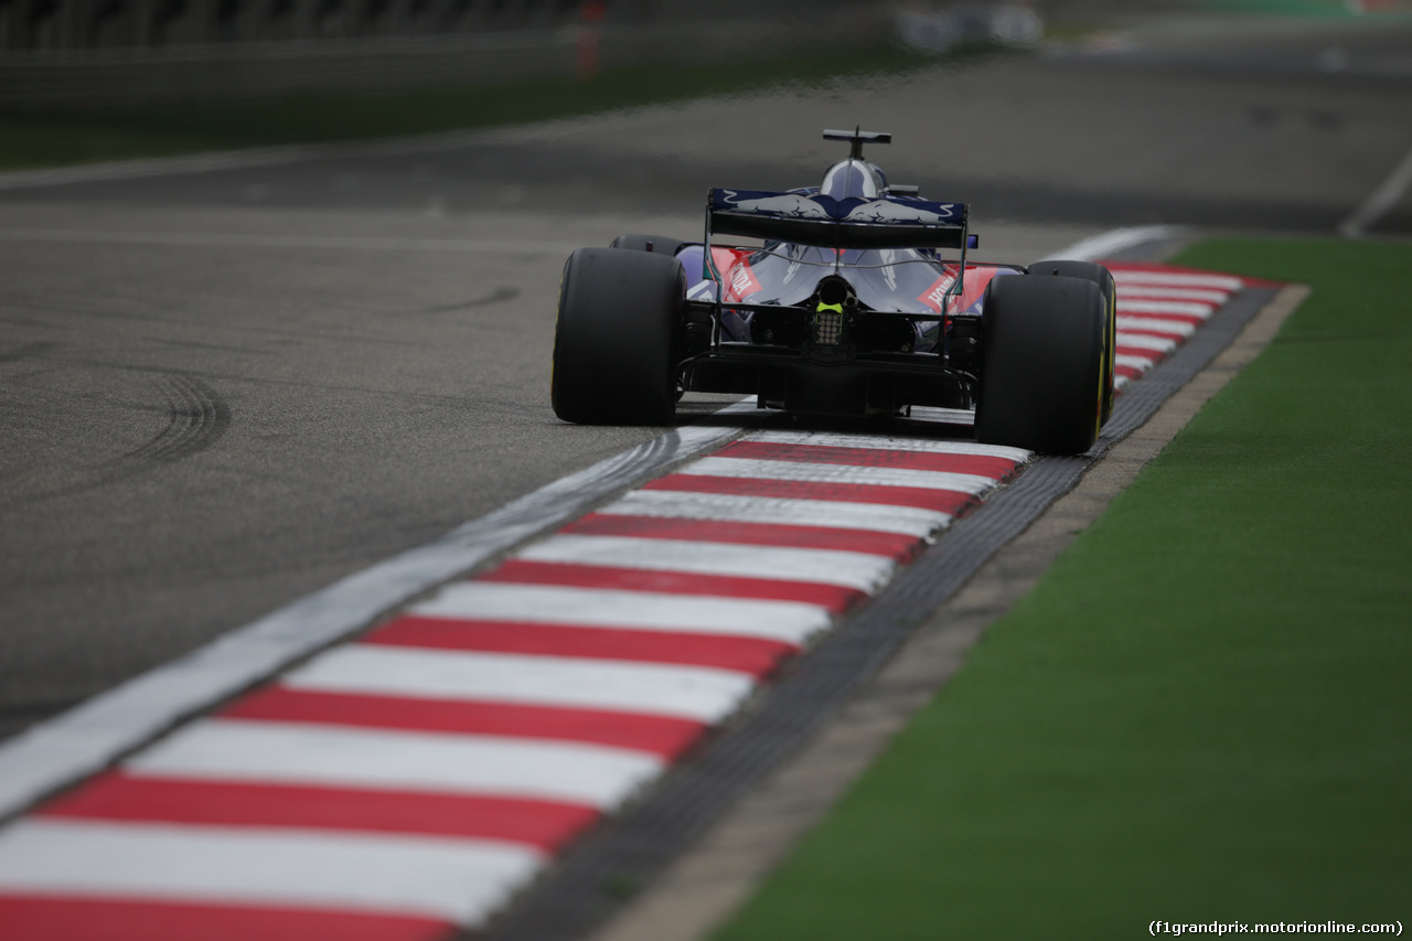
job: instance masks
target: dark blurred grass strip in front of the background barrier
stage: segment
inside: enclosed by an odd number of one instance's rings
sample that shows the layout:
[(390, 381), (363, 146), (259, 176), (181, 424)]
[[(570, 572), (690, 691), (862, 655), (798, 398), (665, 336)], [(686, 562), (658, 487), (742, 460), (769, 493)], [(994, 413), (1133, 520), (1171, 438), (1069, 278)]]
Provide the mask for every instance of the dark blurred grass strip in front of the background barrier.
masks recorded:
[[(963, 62), (990, 49), (967, 49)], [(823, 49), (716, 65), (604, 69), (597, 76), (103, 109), (0, 109), (0, 171), (274, 144), (369, 140), (517, 124), (760, 88), (813, 88), (936, 65), (895, 47)]]

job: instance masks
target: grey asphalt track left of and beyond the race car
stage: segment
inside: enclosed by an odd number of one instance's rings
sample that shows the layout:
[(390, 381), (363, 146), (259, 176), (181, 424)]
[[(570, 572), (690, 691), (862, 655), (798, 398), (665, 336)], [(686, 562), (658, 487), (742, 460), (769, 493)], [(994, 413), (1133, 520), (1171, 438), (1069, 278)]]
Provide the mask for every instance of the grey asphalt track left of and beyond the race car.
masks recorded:
[[(1281, 37), (1193, 64), (1211, 44), (1163, 40), (202, 172), (16, 179), (0, 730), (652, 439), (548, 408), (558, 271), (579, 244), (689, 237), (707, 185), (812, 181), (833, 157), (819, 129), (853, 123), (895, 134), (877, 155), (894, 179), (971, 201), (988, 257), (1111, 225), (1332, 233), (1412, 148), (1412, 81), (1385, 42), (1340, 37), (1340, 59), (1326, 37)], [(1408, 227), (1401, 192), (1370, 230)]]

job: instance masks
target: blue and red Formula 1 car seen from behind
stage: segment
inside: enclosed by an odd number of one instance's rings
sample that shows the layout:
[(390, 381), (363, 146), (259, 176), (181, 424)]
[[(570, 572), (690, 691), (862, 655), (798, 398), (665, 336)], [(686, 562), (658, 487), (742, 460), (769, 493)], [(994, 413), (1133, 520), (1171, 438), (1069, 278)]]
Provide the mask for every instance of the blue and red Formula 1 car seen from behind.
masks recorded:
[(1113, 410), (1107, 268), (969, 263), (966, 203), (888, 185), (863, 158), (890, 134), (823, 136), (850, 154), (819, 187), (712, 189), (702, 242), (628, 235), (569, 256), (555, 414), (669, 424), (683, 391), (837, 417), (932, 406), (974, 410), (986, 444), (1087, 451)]

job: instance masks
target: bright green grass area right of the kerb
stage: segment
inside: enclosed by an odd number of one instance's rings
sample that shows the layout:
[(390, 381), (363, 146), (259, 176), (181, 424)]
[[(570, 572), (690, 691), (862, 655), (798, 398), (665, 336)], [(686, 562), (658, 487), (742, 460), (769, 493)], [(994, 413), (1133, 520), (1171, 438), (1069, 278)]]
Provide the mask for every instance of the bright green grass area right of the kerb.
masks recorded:
[(1412, 246), (1178, 261), (1315, 290), (717, 941), (1412, 914)]

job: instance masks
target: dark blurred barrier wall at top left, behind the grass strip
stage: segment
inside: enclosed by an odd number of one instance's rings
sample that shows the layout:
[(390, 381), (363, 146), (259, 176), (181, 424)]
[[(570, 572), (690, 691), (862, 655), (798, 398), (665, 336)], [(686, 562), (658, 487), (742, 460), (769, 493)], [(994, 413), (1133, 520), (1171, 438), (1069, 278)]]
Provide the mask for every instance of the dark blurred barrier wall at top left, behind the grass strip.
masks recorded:
[(219, 100), (388, 90), (799, 47), (874, 21), (866, 4), (786, 0), (10, 0), (0, 103)]

